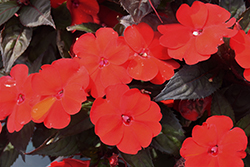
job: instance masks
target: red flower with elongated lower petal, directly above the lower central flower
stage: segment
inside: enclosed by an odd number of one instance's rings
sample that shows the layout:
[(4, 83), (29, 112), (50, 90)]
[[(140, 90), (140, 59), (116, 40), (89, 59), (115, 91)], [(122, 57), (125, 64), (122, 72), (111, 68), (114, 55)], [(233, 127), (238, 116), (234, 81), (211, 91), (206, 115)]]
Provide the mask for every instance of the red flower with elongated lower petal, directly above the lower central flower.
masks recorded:
[(109, 85), (130, 83), (123, 64), (128, 60), (129, 48), (122, 37), (112, 28), (100, 28), (95, 33), (82, 35), (74, 44), (76, 60), (88, 70), (91, 82), (91, 95), (102, 97)]

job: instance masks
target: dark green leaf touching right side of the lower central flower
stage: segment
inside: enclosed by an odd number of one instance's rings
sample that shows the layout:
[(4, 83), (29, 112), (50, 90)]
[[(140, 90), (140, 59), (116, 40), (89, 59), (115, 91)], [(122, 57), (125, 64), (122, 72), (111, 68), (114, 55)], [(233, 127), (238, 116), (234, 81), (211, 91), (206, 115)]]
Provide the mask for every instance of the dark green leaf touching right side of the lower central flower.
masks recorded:
[(160, 106), (163, 113), (162, 132), (153, 139), (152, 146), (163, 153), (178, 156), (181, 143), (185, 138), (184, 131), (173, 111), (165, 105)]

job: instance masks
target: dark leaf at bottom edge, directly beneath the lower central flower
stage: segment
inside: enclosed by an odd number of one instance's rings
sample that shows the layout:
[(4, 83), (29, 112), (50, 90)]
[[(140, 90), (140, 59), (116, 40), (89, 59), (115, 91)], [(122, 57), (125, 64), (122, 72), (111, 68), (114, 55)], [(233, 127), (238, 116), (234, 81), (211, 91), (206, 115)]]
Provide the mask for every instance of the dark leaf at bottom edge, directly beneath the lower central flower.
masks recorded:
[(136, 155), (125, 154), (121, 152), (121, 156), (132, 167), (153, 167), (152, 157), (148, 149), (139, 151)]

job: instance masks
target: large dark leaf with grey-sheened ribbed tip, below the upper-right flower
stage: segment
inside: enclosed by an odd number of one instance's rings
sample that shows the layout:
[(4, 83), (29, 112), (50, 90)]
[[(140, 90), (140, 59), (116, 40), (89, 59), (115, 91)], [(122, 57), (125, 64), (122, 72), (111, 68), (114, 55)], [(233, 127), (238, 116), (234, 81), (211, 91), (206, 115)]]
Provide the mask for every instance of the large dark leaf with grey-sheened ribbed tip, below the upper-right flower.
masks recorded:
[(155, 100), (201, 99), (211, 95), (222, 84), (223, 71), (220, 67), (214, 59), (183, 66)]

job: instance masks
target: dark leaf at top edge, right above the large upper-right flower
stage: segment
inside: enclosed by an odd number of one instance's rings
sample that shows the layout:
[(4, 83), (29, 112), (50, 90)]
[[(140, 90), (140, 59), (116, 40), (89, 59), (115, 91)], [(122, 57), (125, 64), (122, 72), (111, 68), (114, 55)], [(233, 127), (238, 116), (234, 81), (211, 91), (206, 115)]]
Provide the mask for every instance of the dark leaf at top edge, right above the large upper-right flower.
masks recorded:
[(238, 18), (246, 10), (244, 0), (220, 0), (219, 5), (227, 9), (235, 18)]

